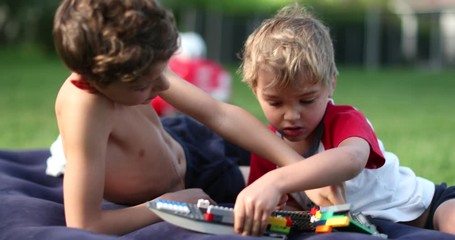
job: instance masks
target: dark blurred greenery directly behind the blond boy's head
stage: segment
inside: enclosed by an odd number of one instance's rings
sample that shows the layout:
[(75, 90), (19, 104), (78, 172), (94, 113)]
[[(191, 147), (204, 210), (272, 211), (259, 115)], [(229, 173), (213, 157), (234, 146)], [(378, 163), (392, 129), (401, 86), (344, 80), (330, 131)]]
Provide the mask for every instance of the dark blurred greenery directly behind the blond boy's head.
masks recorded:
[(163, 0), (162, 3), (174, 11), (182, 31), (196, 31), (206, 39), (208, 57), (232, 62), (245, 38), (264, 18), (294, 1), (307, 6), (330, 27), (339, 48), (338, 61), (365, 63), (372, 68), (380, 64), (382, 15), (387, 14), (388, 0)]

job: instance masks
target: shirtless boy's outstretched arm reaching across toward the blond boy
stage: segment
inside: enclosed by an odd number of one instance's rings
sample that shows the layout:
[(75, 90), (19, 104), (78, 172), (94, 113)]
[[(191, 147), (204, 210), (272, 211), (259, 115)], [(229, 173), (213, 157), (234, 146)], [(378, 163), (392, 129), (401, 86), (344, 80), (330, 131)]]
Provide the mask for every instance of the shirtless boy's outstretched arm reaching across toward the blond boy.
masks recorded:
[(303, 159), (246, 110), (212, 98), (170, 69), (166, 71), (166, 77), (169, 79), (170, 87), (160, 96), (221, 137), (279, 166)]

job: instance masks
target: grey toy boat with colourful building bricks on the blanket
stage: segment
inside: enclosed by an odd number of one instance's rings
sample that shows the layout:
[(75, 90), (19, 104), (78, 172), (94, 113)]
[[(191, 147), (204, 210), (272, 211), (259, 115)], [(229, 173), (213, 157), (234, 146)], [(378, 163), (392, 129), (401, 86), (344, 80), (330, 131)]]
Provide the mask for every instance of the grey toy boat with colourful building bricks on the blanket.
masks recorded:
[[(148, 208), (163, 220), (192, 231), (209, 234), (235, 234), (233, 208), (210, 205), (200, 199), (198, 204), (154, 200)], [(286, 239), (291, 231), (327, 233), (332, 230), (361, 232), (386, 237), (374, 225), (363, 225), (349, 215), (349, 204), (312, 209), (311, 211), (274, 211), (264, 237)]]

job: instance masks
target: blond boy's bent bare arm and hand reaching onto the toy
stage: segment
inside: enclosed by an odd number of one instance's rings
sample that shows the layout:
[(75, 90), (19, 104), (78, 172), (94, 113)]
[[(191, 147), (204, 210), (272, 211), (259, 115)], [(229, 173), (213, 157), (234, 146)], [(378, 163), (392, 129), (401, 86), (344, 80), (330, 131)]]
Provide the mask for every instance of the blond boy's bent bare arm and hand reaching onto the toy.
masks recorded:
[(365, 167), (369, 154), (369, 144), (364, 139), (352, 137), (337, 148), (268, 172), (237, 196), (235, 230), (244, 235), (262, 234), (283, 194), (349, 180)]

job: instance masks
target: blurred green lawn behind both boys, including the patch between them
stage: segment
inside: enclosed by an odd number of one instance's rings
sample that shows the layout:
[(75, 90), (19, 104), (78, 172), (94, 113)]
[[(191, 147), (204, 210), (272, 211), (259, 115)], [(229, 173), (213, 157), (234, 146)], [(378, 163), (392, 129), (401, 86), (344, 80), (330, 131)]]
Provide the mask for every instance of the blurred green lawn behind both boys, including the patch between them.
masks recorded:
[[(57, 136), (54, 99), (68, 71), (57, 57), (0, 48), (0, 148), (48, 148)], [(264, 120), (235, 76), (233, 103)], [(341, 68), (337, 104), (351, 104), (372, 122), (401, 164), (435, 182), (455, 184), (455, 71)]]

